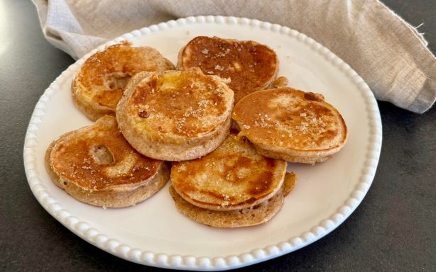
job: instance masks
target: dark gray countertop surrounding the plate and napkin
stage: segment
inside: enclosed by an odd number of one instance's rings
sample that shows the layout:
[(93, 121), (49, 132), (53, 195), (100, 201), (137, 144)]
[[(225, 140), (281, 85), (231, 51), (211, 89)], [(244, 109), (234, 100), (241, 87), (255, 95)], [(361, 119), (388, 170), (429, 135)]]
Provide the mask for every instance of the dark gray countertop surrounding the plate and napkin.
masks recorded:
[[(436, 52), (436, 1), (384, 1), (424, 25)], [(74, 61), (40, 30), (30, 1), (0, 4), (0, 271), (158, 271), (88, 244), (33, 197), (23, 141), (38, 98)], [(383, 147), (369, 193), (327, 237), (240, 271), (436, 271), (436, 108), (423, 115), (378, 103)]]

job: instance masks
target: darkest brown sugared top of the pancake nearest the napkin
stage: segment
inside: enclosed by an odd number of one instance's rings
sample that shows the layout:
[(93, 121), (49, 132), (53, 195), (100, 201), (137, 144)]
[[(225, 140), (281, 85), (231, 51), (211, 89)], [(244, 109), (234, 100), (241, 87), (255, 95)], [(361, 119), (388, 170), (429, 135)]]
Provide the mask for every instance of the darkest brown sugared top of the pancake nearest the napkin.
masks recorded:
[(253, 41), (224, 40), (200, 36), (179, 53), (179, 69), (200, 67), (205, 74), (229, 78), (235, 101), (265, 89), (276, 76), (278, 58), (266, 45)]

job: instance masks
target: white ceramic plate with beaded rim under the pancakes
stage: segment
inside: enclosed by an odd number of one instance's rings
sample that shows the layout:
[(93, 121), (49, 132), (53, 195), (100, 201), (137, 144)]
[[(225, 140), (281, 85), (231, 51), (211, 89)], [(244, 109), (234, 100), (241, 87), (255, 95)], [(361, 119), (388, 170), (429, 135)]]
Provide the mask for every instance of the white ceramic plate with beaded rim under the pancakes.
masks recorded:
[[(276, 217), (263, 225), (219, 229), (180, 214), (168, 184), (131, 208), (83, 204), (56, 187), (45, 171), (50, 142), (91, 124), (72, 102), (70, 82), (84, 60), (72, 64), (36, 104), (26, 135), (24, 162), (29, 186), (41, 205), (87, 242), (123, 259), (149, 266), (187, 270), (225, 270), (265, 261), (315, 242), (340, 225), (364, 198), (381, 149), (376, 100), (363, 79), (327, 48), (290, 28), (246, 18), (199, 16), (160, 23), (117, 38), (149, 45), (172, 60), (198, 35), (255, 40), (270, 46), (280, 60), (279, 75), (289, 85), (324, 94), (347, 123), (349, 140), (322, 164), (290, 164), (298, 173), (295, 190)], [(97, 50), (102, 50), (100, 46)]]

